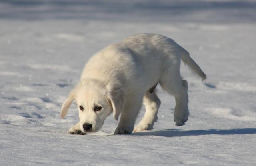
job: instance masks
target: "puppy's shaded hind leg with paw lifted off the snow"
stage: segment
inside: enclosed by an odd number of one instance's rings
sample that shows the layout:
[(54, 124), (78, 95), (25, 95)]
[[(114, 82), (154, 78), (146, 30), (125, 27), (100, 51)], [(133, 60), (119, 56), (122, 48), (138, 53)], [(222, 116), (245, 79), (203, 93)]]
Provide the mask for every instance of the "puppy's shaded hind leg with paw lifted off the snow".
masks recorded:
[(182, 80), (180, 72), (171, 70), (168, 76), (161, 80), (163, 90), (175, 97), (174, 121), (177, 126), (182, 126), (188, 120), (188, 83)]

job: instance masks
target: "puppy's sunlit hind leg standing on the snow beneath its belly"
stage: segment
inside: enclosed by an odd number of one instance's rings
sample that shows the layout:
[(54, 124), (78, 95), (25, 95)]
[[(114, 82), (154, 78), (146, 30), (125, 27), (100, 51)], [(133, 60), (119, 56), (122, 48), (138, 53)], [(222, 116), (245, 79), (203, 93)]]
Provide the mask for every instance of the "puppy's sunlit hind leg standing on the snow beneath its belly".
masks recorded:
[(154, 122), (157, 120), (158, 108), (160, 107), (161, 101), (156, 93), (149, 93), (149, 91), (147, 91), (143, 97), (143, 104), (146, 107), (146, 112), (140, 123), (135, 126), (133, 132), (150, 130), (153, 128)]

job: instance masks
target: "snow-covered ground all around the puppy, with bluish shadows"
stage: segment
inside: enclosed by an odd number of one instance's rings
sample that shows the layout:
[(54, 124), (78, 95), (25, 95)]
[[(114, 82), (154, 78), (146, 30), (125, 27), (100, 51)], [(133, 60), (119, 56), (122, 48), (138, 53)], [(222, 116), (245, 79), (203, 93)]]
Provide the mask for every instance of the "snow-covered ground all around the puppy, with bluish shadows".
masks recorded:
[[(116, 2), (115, 2), (116, 1)], [(62, 102), (85, 62), (131, 34), (154, 32), (186, 48), (207, 74), (189, 82), (190, 117), (175, 126), (162, 100), (154, 130), (68, 135)], [(256, 2), (0, 1), (0, 165), (256, 165)], [(142, 108), (138, 121), (142, 118)]]

